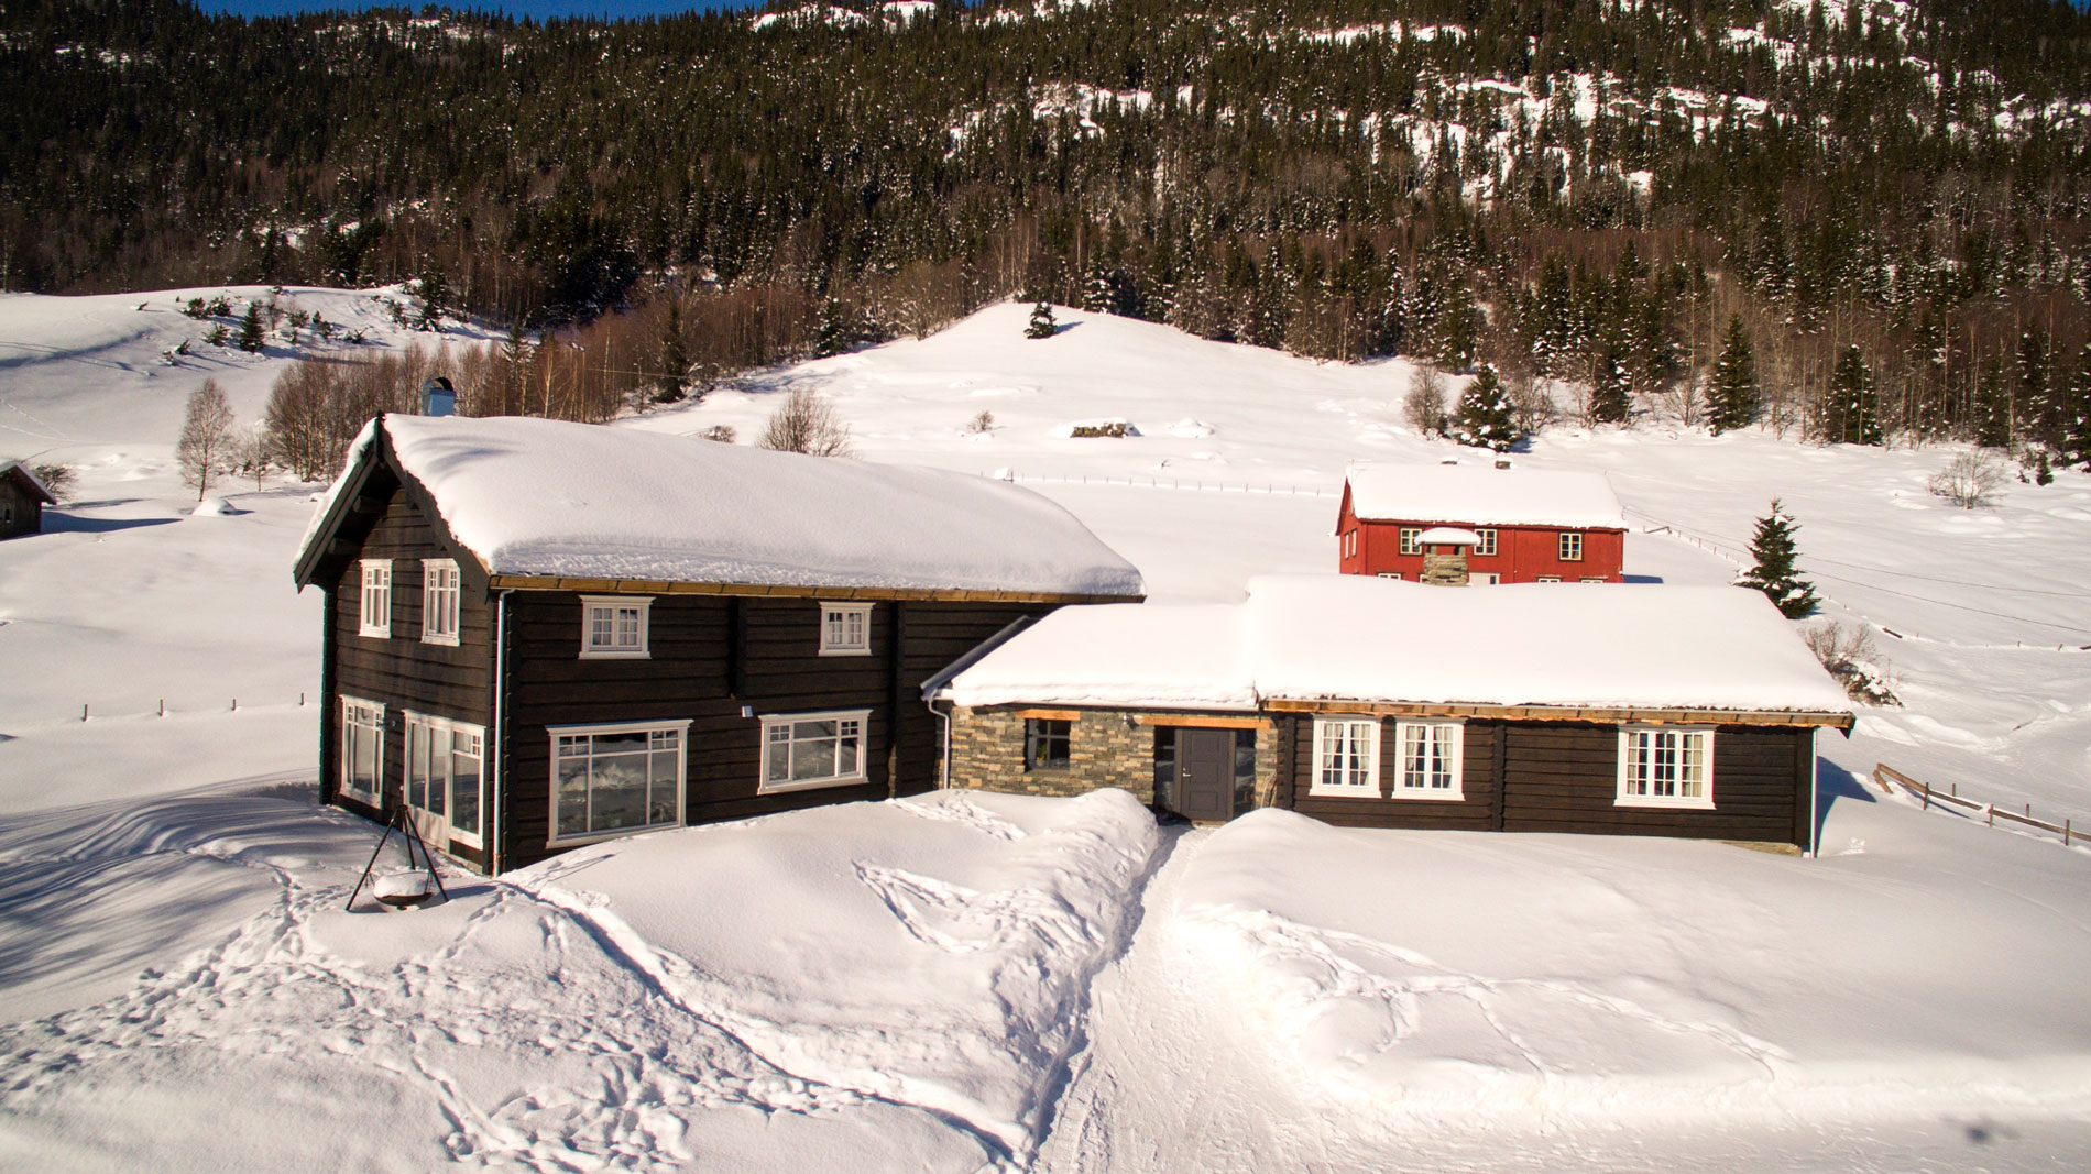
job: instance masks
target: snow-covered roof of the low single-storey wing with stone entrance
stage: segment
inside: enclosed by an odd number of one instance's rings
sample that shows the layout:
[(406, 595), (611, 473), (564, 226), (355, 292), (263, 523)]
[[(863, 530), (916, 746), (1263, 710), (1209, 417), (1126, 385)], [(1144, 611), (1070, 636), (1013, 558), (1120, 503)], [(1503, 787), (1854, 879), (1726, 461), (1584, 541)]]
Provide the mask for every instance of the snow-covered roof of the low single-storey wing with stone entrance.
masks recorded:
[(1062, 608), (960, 673), (966, 704), (1257, 702), (1848, 714), (1763, 593), (1363, 574), (1253, 579), (1244, 604)]

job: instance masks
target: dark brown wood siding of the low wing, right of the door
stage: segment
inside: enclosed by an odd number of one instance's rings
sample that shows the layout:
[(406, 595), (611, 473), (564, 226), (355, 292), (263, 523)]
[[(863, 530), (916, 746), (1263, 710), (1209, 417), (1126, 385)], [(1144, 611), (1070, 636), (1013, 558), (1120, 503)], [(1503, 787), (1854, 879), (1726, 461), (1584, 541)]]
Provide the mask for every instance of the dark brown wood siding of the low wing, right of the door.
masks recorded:
[[(1719, 725), (1713, 733), (1713, 802), (1704, 808), (1621, 806), (1618, 727), (1568, 721), (1468, 721), (1462, 802), (1330, 798), (1315, 777), (1313, 719), (1282, 714), (1273, 800), (1347, 827), (1587, 831), (1809, 844), (1815, 731)], [(1380, 794), (1399, 769), (1395, 723), (1380, 723)]]

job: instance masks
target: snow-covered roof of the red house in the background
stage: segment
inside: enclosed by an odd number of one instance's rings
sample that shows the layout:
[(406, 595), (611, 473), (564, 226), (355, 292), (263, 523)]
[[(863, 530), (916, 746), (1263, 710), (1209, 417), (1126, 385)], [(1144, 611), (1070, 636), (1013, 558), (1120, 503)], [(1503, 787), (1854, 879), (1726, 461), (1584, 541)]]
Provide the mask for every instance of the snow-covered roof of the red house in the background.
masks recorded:
[(1351, 512), (1378, 522), (1462, 526), (1625, 529), (1612, 483), (1600, 472), (1474, 464), (1353, 464)]

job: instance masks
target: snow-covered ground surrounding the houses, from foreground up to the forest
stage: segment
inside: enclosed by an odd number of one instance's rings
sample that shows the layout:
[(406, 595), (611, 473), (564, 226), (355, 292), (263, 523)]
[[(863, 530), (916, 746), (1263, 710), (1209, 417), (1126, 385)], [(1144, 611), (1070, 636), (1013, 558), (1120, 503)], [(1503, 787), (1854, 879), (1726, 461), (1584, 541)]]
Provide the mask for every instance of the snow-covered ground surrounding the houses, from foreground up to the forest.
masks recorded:
[[(197, 382), (253, 420), (289, 355), (169, 366), (215, 292), (0, 297), (0, 455), (79, 468), (0, 545), (0, 1168), (2091, 1164), (2091, 852), (1865, 781), (2091, 823), (2083, 474), (1966, 512), (1924, 489), (1940, 449), (1644, 426), (1518, 457), (1610, 474), (1629, 579), (1721, 583), (1773, 495), (1800, 520), (1907, 702), (1823, 737), (1819, 861), (939, 794), (345, 913), (374, 829), (312, 802), (318, 487), (190, 516), (171, 462)], [(370, 292), (289, 297), (414, 338)], [(1401, 361), (1027, 313), (629, 426), (751, 437), (815, 386), (866, 460), (1014, 476), (1167, 602), (1332, 568), (1351, 460), (1476, 455), (1399, 424)]]

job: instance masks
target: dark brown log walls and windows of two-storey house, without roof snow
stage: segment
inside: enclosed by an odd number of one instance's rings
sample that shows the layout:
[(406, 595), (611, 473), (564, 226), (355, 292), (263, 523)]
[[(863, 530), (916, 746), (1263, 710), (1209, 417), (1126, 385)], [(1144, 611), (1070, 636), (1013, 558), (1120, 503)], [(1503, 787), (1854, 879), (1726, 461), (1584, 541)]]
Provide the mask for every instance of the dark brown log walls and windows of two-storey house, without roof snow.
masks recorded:
[(924, 681), (1018, 620), (1125, 597), (489, 572), (385, 426), (297, 581), (326, 593), (322, 802), (372, 819), (404, 802), (485, 871), (933, 790)]

